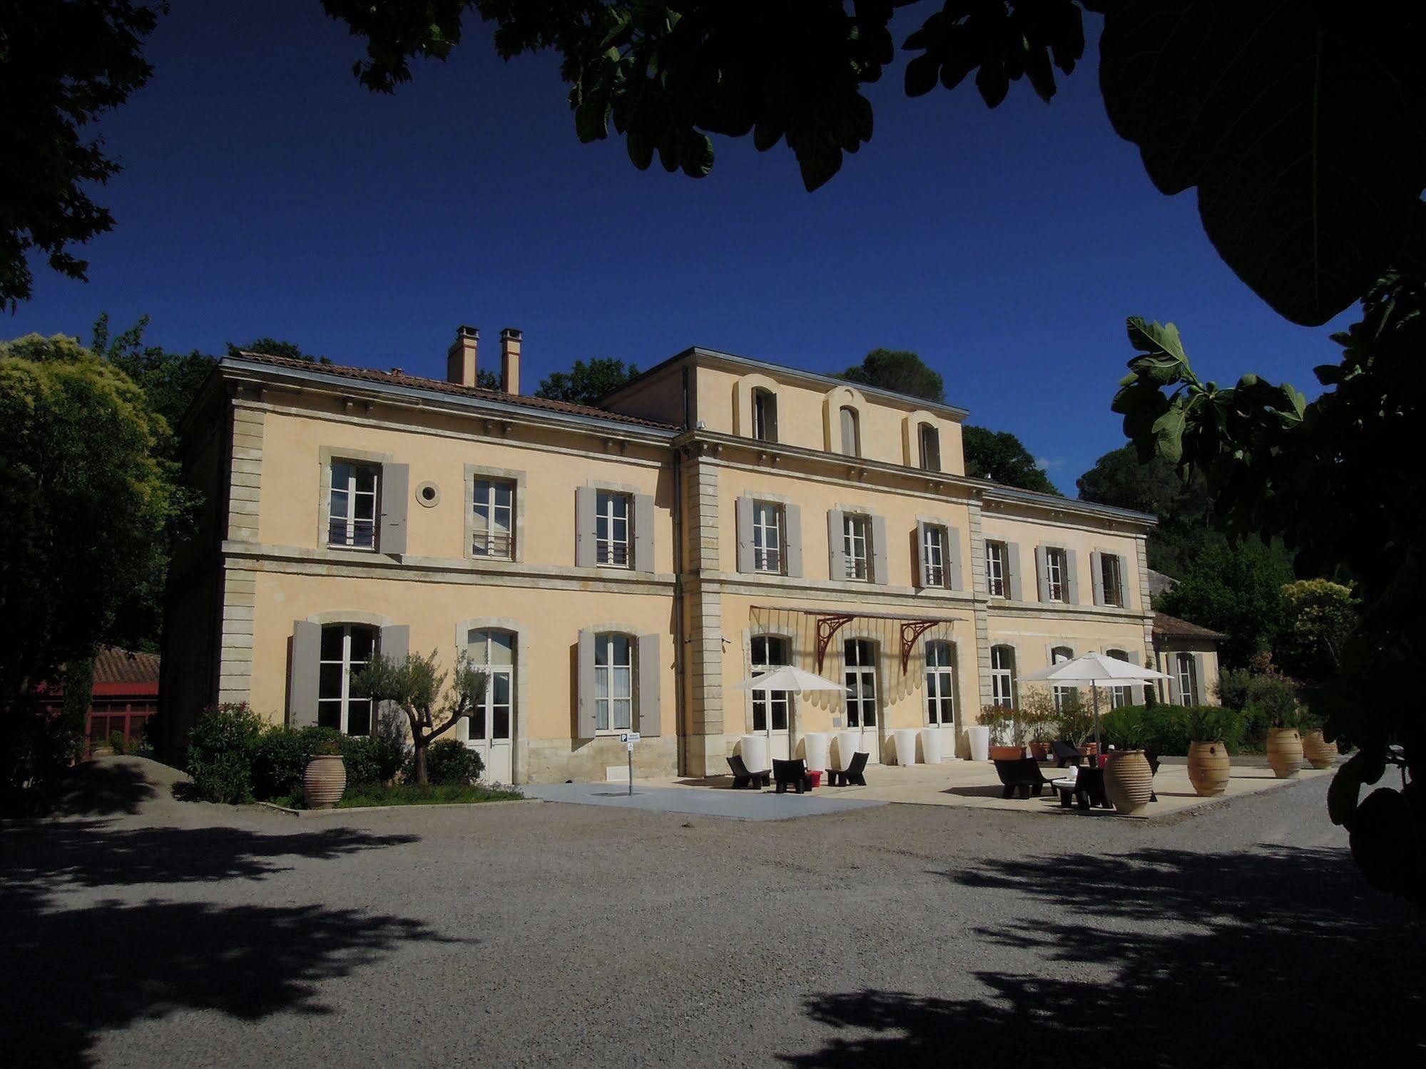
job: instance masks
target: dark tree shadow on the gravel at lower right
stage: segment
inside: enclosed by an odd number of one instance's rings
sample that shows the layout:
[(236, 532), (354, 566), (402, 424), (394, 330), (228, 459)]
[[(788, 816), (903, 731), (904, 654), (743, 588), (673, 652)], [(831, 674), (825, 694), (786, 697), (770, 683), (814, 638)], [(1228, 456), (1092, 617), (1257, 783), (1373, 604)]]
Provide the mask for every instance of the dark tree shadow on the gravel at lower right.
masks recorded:
[(1144, 849), (987, 861), (947, 877), (1057, 907), (1051, 921), (980, 929), (1031, 956), (1032, 972), (967, 962), (981, 998), (813, 996), (807, 1015), (846, 1035), (783, 1062), (1196, 1069), (1426, 1055), (1420, 918), (1369, 891), (1345, 851)]

